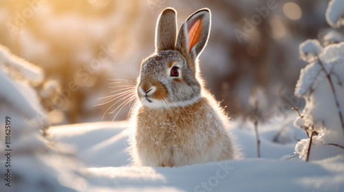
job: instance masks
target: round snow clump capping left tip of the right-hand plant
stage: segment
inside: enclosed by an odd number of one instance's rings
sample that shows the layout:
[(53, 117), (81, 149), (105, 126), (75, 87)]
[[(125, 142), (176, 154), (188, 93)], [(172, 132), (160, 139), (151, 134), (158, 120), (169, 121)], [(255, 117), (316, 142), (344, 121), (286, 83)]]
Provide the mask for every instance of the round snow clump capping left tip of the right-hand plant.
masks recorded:
[(321, 47), (319, 40), (308, 39), (299, 45), (299, 50), (301, 59), (312, 62), (318, 58), (321, 51), (323, 51), (323, 47)]

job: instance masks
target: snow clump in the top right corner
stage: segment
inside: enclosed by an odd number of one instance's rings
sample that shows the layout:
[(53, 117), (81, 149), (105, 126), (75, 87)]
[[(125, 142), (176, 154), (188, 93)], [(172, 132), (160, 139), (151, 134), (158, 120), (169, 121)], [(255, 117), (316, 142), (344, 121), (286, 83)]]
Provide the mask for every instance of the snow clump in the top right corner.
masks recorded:
[(344, 1), (330, 1), (327, 6), (325, 18), (331, 27), (338, 28), (344, 25)]

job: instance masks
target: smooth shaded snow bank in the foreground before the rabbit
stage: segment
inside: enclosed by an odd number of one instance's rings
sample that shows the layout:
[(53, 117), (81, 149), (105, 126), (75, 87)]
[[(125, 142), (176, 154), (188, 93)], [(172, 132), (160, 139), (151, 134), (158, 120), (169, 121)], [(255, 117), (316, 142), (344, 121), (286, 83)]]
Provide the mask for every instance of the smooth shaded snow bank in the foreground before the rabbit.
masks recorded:
[[(109, 182), (107, 186), (113, 191), (127, 187), (131, 189), (128, 191), (140, 191), (140, 188), (156, 191), (340, 191), (343, 189), (343, 173), (324, 168), (336, 164), (343, 169), (343, 156), (314, 163), (250, 159), (177, 168), (107, 167), (89, 170), (94, 173), (93, 180), (98, 176), (99, 180)], [(330, 184), (321, 182), (334, 178), (336, 180)], [(316, 184), (316, 181), (321, 184)]]

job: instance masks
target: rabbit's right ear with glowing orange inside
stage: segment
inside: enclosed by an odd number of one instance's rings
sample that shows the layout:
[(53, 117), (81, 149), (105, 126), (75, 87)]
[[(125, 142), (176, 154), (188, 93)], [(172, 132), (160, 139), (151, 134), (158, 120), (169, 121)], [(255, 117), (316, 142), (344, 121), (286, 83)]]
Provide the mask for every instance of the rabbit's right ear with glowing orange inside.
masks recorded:
[(203, 51), (211, 32), (211, 11), (197, 10), (184, 21), (178, 33), (175, 49), (187, 59), (195, 60)]

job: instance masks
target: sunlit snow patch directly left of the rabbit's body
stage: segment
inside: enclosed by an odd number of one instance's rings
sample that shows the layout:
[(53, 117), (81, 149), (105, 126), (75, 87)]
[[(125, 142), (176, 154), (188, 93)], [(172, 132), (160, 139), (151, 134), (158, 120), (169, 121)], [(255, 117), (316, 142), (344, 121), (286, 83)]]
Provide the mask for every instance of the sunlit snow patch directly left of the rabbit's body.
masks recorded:
[(127, 126), (121, 121), (59, 125), (50, 129), (50, 134), (53, 141), (75, 145), (74, 150), (89, 166), (122, 166), (131, 158), (126, 149), (129, 147), (125, 134)]

